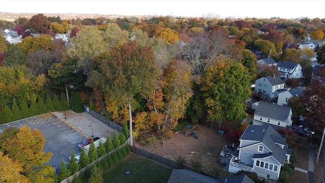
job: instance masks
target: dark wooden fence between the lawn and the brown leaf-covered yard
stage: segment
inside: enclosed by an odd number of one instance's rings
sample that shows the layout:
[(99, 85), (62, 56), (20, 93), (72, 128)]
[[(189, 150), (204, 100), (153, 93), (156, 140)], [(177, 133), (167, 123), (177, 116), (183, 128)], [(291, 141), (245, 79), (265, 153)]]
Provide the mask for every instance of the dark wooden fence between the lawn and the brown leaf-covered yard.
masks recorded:
[[(175, 162), (173, 160), (170, 160), (168, 158), (165, 158), (165, 157), (150, 153), (149, 151), (138, 148), (136, 146), (131, 146), (130, 145), (130, 149), (131, 149), (132, 153), (143, 156), (145, 158), (148, 158), (148, 159), (153, 160), (155, 162), (161, 163), (163, 165), (169, 166), (169, 167), (171, 167), (173, 169), (178, 169), (179, 168), (179, 165), (178, 165), (177, 162)], [(182, 169), (187, 169), (187, 170), (193, 171), (193, 169), (191, 167), (188, 167), (188, 166), (185, 166), (185, 165), (182, 167)]]

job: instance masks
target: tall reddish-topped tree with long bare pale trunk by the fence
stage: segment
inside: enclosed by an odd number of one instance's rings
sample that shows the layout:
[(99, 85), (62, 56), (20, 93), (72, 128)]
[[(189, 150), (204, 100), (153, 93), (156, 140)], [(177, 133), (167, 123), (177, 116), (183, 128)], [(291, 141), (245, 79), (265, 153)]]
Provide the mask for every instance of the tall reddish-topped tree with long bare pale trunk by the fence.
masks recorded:
[[(121, 47), (112, 49), (110, 57), (103, 60), (103, 72), (106, 80), (103, 82), (105, 97), (115, 101), (118, 107), (128, 105), (130, 137), (132, 138), (132, 108), (135, 95), (145, 97), (152, 91), (157, 77), (154, 67), (153, 50), (149, 46), (138, 46), (132, 41)], [(116, 91), (119, 92), (116, 92)], [(107, 104), (111, 106), (111, 104)], [(107, 108), (109, 112), (111, 109)], [(131, 139), (132, 145), (132, 139)]]

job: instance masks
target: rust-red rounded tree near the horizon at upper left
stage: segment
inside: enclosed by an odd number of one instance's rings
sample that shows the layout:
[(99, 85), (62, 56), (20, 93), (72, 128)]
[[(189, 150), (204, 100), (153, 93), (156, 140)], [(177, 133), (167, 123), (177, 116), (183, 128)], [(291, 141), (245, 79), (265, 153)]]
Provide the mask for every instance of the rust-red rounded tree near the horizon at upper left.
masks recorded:
[(46, 33), (50, 22), (43, 14), (32, 16), (28, 20), (28, 27), (32, 33)]

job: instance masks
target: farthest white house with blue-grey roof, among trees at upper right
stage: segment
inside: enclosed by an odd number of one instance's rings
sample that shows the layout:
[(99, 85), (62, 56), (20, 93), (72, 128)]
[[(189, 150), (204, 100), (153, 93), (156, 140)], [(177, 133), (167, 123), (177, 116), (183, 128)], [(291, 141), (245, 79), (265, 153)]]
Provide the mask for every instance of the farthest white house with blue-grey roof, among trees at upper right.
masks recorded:
[(302, 67), (299, 63), (288, 62), (282, 60), (278, 63), (278, 71), (280, 72), (280, 76), (287, 78), (301, 78), (303, 76)]

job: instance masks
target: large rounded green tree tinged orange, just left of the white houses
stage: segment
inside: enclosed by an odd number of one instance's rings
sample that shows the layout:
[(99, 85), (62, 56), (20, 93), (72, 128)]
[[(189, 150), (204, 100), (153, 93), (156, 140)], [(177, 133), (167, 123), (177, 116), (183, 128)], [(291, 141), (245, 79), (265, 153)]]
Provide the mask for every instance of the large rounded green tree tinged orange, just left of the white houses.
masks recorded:
[(250, 77), (243, 65), (232, 59), (216, 60), (200, 79), (208, 120), (229, 121), (246, 117), (245, 101), (250, 96)]

